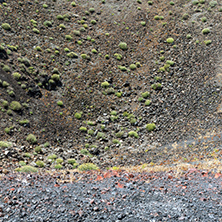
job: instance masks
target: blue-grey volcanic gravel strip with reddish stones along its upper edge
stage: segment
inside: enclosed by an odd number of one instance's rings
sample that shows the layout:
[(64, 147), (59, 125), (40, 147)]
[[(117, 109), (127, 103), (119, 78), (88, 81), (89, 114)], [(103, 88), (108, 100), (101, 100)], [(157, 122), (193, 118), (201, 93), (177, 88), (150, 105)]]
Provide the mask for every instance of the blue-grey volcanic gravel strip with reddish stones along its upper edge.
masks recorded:
[(222, 177), (173, 172), (11, 174), (0, 181), (0, 221), (221, 221)]

